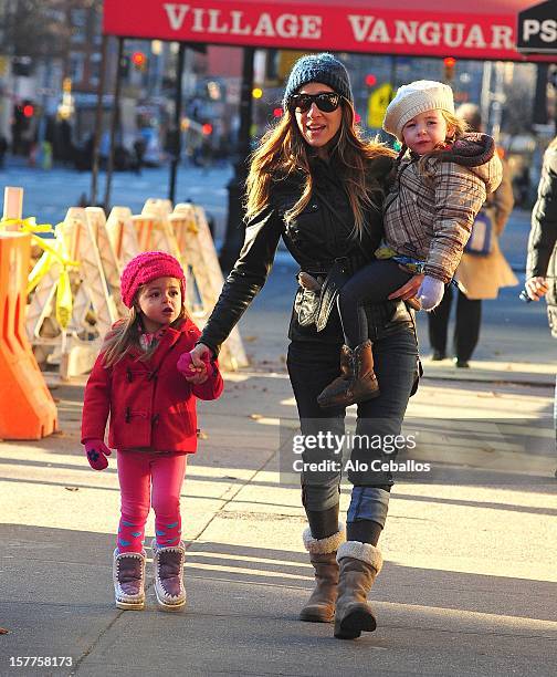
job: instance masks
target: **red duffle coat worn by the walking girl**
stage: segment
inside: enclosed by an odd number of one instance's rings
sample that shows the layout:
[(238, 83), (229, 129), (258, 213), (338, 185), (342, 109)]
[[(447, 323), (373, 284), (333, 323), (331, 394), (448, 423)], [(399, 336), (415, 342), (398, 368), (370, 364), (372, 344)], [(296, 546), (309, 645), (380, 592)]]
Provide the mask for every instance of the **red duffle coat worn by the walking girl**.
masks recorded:
[(217, 362), (212, 363), (212, 376), (200, 385), (188, 383), (176, 367), (199, 335), (187, 319), (180, 327), (167, 329), (148, 361), (139, 360), (139, 347), (132, 347), (119, 362), (106, 367), (101, 353), (85, 387), (82, 442), (104, 439), (109, 415), (112, 448), (195, 454), (196, 397), (217, 399), (223, 388)]

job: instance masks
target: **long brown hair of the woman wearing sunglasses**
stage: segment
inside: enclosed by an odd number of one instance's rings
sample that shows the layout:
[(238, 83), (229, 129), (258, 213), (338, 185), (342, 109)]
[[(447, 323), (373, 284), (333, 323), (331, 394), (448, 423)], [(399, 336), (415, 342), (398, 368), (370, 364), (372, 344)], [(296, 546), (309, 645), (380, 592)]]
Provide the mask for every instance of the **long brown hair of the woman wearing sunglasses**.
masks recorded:
[[(367, 184), (367, 163), (378, 156), (395, 157), (395, 153), (377, 140), (366, 140), (355, 126), (354, 107), (346, 98), (340, 100), (341, 122), (330, 157), (335, 157), (339, 166), (339, 175), (354, 213), (355, 232), (361, 235), (364, 229), (364, 211), (371, 206)], [(277, 177), (302, 175), (305, 180), (302, 195), (296, 204), (285, 213), (288, 222), (305, 209), (309, 202), (313, 189), (313, 178), (309, 170), (308, 146), (299, 133), (295, 116), (290, 110), (269, 129), (258, 149), (251, 157), (250, 173), (246, 180), (245, 217), (250, 219), (267, 204), (271, 186)]]

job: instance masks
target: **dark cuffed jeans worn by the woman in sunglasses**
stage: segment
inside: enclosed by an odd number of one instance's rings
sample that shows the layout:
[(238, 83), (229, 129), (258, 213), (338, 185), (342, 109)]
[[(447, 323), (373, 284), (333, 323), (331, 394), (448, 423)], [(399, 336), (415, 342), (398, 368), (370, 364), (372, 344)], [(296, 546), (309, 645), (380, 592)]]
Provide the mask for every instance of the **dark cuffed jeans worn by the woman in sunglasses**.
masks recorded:
[[(287, 367), (296, 398), (303, 436), (345, 434), (344, 407), (322, 409), (317, 396), (339, 374), (340, 344), (293, 341), (288, 346)], [(392, 476), (388, 471), (371, 469), (374, 460), (386, 461), (396, 457), (382, 448), (368, 444), (369, 439), (386, 439), (400, 434), (416, 376), (418, 346), (411, 327), (385, 336), (374, 344), (375, 371), (381, 386), (376, 399), (360, 403), (357, 409), (356, 435), (361, 437), (350, 445), (350, 461), (362, 470), (348, 469), (349, 481), (355, 486), (389, 488)], [(305, 448), (304, 462), (329, 459), (338, 461), (330, 448)], [(303, 502), (308, 510), (328, 510), (338, 502), (341, 472), (337, 469), (303, 472)]]

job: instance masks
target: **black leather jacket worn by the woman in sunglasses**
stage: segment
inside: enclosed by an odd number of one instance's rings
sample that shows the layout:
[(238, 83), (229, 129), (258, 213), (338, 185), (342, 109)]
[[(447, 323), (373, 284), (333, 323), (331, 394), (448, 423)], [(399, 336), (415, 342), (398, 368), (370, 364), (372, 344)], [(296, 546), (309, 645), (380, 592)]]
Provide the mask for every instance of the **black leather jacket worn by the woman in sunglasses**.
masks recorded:
[[(240, 258), (227, 278), (199, 343), (204, 343), (216, 354), (219, 352), (221, 343), (265, 283), (281, 237), (301, 270), (309, 273), (326, 273), (339, 257), (348, 257), (353, 272), (371, 260), (382, 237), (383, 190), (392, 166), (390, 157), (378, 157), (369, 163), (370, 197), (377, 207), (366, 213), (366, 233), (361, 244), (351, 237), (354, 217), (334, 163), (327, 165), (319, 159), (313, 160), (315, 189), (312, 199), (306, 209), (287, 225), (284, 213), (298, 199), (302, 178), (276, 180), (269, 206), (246, 223)], [(413, 326), (410, 311), (401, 301), (369, 305), (366, 312), (370, 338), (375, 341)], [(293, 310), (288, 337), (292, 341), (343, 343), (336, 306), (320, 332), (315, 325), (301, 326)]]

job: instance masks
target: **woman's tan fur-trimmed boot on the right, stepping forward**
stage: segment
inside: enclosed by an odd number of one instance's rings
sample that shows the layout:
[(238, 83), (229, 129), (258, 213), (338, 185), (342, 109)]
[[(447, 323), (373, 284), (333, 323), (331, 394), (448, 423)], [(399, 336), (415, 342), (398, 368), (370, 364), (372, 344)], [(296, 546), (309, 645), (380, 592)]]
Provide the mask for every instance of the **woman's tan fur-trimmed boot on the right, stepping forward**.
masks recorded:
[(335, 637), (355, 639), (362, 631), (376, 628), (376, 618), (367, 602), (377, 574), (381, 571), (381, 552), (375, 545), (346, 541), (337, 552), (340, 567), (335, 616)]

